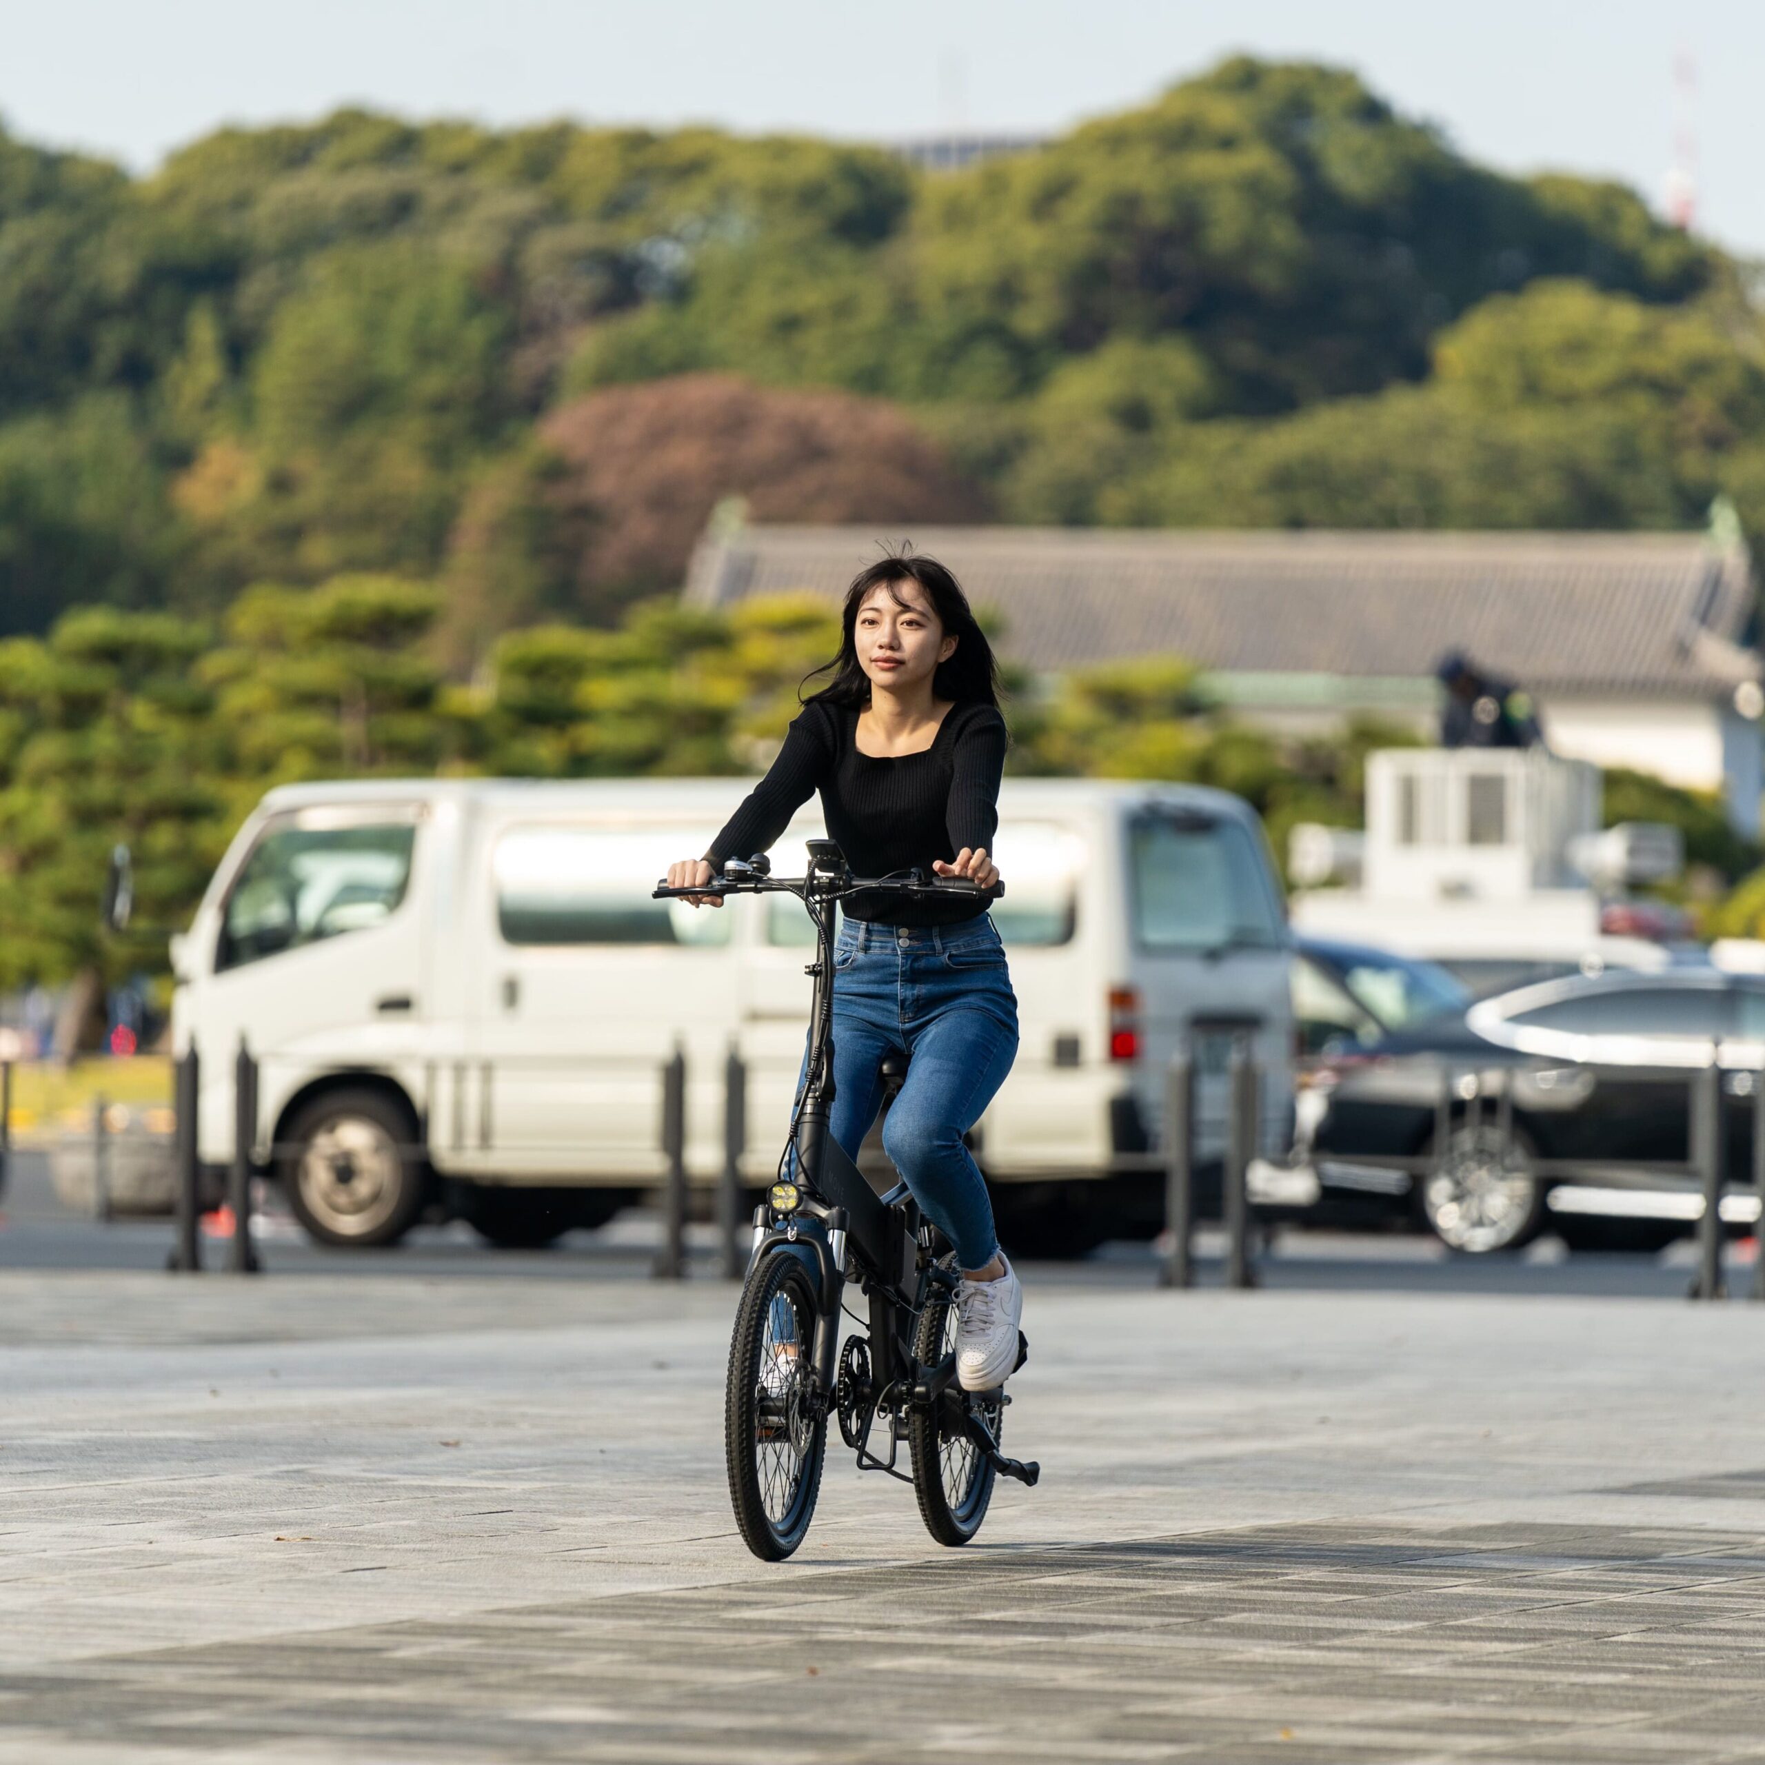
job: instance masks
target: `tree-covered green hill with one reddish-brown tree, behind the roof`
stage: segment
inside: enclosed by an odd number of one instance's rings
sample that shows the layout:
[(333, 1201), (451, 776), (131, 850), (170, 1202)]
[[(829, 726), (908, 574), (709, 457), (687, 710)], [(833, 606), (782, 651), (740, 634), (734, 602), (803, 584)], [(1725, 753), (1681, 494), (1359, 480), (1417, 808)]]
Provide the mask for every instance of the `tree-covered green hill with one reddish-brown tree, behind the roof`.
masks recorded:
[(131, 180), (0, 141), (0, 632), (344, 570), (457, 667), (770, 519), (1765, 526), (1740, 270), (1232, 60), (957, 175), (360, 111)]

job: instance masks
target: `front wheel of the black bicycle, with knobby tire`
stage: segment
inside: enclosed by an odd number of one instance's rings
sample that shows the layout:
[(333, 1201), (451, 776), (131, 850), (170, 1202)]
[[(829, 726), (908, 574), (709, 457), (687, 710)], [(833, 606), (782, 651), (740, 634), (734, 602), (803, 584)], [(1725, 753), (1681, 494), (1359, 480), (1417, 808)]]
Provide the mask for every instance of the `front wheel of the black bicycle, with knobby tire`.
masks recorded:
[(775, 1250), (748, 1271), (729, 1340), (724, 1458), (736, 1525), (755, 1557), (782, 1562), (815, 1516), (826, 1412), (812, 1407), (815, 1283)]

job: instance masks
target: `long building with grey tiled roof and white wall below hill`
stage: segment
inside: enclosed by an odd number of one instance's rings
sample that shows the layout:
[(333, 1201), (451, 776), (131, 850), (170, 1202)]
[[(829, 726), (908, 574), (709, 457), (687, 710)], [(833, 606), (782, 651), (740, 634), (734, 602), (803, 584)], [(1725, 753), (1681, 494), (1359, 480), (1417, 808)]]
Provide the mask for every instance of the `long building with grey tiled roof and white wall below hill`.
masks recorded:
[[(701, 544), (687, 597), (837, 595), (907, 537), (724, 528)], [(1033, 671), (1175, 651), (1250, 717), (1426, 722), (1433, 665), (1461, 650), (1534, 690), (1560, 752), (1721, 787), (1739, 821), (1758, 822), (1765, 701), (1739, 533), (928, 528), (911, 540)]]

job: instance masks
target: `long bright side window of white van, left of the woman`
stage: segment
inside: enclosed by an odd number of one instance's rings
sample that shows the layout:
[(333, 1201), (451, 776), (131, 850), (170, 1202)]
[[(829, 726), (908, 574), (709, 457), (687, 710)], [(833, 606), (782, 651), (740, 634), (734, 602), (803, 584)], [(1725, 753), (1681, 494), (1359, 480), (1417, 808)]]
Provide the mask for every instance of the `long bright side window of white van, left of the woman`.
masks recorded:
[(491, 861), (507, 944), (727, 944), (736, 907), (651, 900), (681, 852), (713, 828), (510, 828)]

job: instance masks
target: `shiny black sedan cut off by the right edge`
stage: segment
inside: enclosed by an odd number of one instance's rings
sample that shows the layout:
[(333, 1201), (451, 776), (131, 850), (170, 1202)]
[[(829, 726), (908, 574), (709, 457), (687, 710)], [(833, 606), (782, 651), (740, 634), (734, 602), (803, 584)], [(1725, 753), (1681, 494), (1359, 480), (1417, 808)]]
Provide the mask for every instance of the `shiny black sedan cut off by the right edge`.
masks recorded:
[[(1703, 1209), (1682, 1167), (1693, 1078), (1712, 1063), (1723, 1068), (1726, 1184), (1746, 1191), (1724, 1195), (1723, 1216), (1744, 1221), (1756, 1218), (1765, 1066), (1765, 976), (1754, 974), (1574, 976), (1338, 1052), (1313, 1078), (1324, 1101), (1301, 1151), (1324, 1197), (1416, 1213), (1454, 1250), (1513, 1250), (1546, 1218), (1571, 1243), (1622, 1232), (1638, 1248), (1661, 1244)], [(1451, 1138), (1437, 1158), (1444, 1082)], [(1536, 1160), (1553, 1168), (1536, 1174)]]

